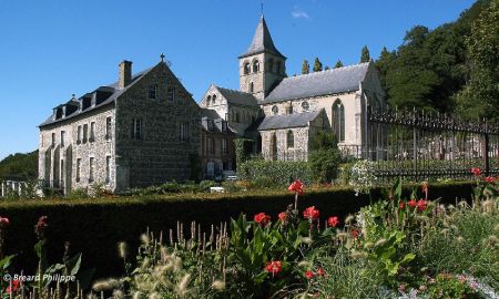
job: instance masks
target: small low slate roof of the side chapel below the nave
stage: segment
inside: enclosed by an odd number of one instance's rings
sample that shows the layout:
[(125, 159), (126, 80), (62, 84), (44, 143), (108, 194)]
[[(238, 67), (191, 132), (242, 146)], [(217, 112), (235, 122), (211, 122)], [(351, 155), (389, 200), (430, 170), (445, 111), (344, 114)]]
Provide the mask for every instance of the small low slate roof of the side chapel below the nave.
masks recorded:
[(308, 123), (315, 120), (323, 111), (324, 109), (312, 112), (265, 116), (258, 126), (258, 131), (308, 126)]

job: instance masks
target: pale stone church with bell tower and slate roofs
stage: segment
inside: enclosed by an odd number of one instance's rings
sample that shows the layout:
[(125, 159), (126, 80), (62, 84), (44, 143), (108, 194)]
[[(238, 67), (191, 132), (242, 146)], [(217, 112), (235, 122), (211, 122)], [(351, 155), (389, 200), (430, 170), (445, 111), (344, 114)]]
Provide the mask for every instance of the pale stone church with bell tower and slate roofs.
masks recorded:
[(262, 16), (238, 56), (240, 89), (210, 85), (200, 105), (216, 112), (238, 137), (254, 141), (265, 159), (306, 161), (317, 132), (335, 133), (338, 147), (365, 157), (368, 109), (386, 105), (373, 61), (287, 76), (286, 56)]

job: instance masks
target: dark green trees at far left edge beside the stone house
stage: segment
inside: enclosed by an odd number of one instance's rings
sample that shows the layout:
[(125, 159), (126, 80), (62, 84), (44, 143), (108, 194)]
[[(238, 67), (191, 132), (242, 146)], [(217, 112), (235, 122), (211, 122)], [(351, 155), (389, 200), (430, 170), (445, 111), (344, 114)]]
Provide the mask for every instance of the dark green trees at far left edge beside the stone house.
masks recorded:
[(38, 151), (9, 155), (0, 161), (0, 179), (32, 181), (38, 178)]

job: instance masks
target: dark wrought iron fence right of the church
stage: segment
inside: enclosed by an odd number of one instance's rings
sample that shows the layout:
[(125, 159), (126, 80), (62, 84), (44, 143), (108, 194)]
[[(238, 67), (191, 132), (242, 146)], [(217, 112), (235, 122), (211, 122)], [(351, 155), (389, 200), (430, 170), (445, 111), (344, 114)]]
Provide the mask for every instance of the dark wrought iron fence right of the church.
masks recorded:
[(469, 178), (499, 174), (499, 124), (416, 110), (370, 110), (363, 157), (381, 181)]

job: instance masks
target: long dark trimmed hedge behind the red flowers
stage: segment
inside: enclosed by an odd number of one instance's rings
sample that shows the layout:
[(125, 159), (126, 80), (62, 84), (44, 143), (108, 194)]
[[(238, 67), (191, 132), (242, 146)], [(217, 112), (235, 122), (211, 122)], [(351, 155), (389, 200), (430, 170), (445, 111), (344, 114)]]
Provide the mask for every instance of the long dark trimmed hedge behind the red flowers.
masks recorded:
[[(470, 199), (472, 183), (450, 183), (431, 185), (430, 197), (444, 197), (448, 203), (456, 198)], [(406, 192), (410, 192), (406, 186)], [(358, 197), (352, 188), (307, 189), (299, 202), (303, 210), (316, 206), (323, 218), (328, 215), (346, 215), (357, 212), (373, 199), (386, 198), (387, 189), (375, 188), (371, 198), (366, 194)], [(96, 277), (108, 277), (123, 272), (118, 258), (116, 244), (126, 241), (131, 256), (135, 255), (139, 236), (149, 227), (152, 231), (176, 228), (176, 221), (189, 227), (192, 220), (208, 231), (211, 224), (226, 221), (245, 213), (249, 217), (265, 212), (275, 219), (279, 212), (293, 203), (293, 194), (279, 192), (247, 192), (237, 194), (183, 194), (177, 196), (18, 200), (0, 204), (0, 216), (10, 219), (7, 233), (8, 254), (18, 254), (16, 271), (34, 274), (37, 266), (33, 245), (33, 226), (41, 215), (49, 217), (49, 261), (60, 262), (64, 241), (71, 243), (72, 254), (83, 252), (82, 269), (96, 268)]]

